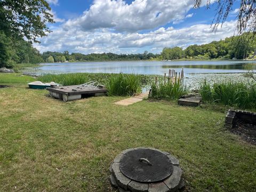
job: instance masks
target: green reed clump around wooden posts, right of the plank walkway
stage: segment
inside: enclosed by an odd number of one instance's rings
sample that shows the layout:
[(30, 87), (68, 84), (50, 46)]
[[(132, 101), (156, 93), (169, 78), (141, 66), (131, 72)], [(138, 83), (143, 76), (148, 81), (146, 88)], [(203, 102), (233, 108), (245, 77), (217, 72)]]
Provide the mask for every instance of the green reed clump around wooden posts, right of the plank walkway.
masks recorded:
[(182, 81), (159, 81), (151, 84), (150, 98), (154, 99), (179, 99), (182, 95), (188, 94), (190, 86)]

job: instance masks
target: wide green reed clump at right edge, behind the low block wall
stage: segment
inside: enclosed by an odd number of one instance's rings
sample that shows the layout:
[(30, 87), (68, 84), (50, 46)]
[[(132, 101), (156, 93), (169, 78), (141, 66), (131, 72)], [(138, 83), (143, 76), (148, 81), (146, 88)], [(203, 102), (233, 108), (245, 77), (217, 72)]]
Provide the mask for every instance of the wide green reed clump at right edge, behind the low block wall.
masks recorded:
[(256, 107), (256, 85), (245, 82), (216, 82), (210, 85), (206, 80), (201, 84), (199, 92), (203, 101), (218, 102), (226, 106), (242, 109)]

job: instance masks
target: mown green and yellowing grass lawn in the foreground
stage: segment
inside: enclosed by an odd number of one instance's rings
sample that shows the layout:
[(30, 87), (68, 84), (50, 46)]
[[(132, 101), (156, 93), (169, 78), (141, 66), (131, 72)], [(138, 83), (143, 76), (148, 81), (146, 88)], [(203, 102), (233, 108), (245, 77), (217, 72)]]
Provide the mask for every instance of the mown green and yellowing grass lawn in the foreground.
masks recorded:
[(225, 113), (122, 97), (62, 102), (0, 74), (0, 191), (115, 191), (109, 166), (122, 150), (154, 147), (180, 160), (185, 191), (255, 191), (256, 146), (223, 128)]

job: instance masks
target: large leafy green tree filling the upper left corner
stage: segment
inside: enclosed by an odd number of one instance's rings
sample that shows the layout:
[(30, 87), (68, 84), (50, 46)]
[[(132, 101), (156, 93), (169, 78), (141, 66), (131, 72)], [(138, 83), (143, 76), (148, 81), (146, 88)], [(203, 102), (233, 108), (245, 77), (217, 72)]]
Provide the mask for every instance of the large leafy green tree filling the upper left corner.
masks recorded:
[[(2, 0), (0, 1), (0, 65), (39, 61), (37, 50), (29, 43), (38, 42), (37, 37), (50, 33), (46, 23), (53, 23), (51, 7), (45, 0)], [(8, 39), (8, 42), (6, 42)], [(30, 53), (34, 54), (30, 58)], [(34, 57), (32, 59), (32, 57)]]

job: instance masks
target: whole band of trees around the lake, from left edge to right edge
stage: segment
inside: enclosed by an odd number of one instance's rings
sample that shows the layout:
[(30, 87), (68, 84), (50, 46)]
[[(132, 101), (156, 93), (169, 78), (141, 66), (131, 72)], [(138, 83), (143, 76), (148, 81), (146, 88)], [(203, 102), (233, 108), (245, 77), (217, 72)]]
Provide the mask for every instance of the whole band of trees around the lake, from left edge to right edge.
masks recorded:
[(244, 33), (241, 36), (228, 37), (204, 45), (190, 45), (185, 50), (181, 47), (165, 47), (161, 54), (145, 51), (137, 54), (115, 53), (39, 53), (23, 38), (7, 37), (0, 31), (0, 67), (12, 67), (15, 63), (41, 62), (77, 62), (77, 61), (125, 61), (125, 60), (173, 60), (173, 59), (255, 59), (256, 36)]

